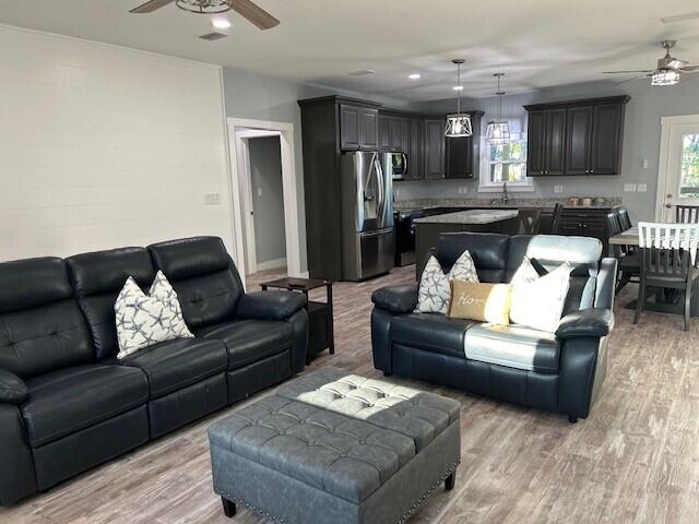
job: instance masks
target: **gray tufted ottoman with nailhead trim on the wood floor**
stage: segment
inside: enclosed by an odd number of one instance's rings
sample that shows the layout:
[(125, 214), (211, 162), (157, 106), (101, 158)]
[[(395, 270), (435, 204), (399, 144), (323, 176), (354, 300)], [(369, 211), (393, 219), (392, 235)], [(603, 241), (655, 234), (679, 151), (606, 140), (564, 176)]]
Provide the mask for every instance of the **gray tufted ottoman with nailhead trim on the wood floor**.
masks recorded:
[(288, 524), (403, 523), (460, 462), (458, 402), (323, 369), (209, 429), (214, 490)]

